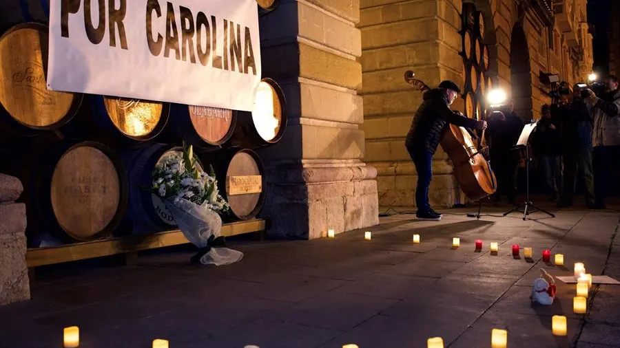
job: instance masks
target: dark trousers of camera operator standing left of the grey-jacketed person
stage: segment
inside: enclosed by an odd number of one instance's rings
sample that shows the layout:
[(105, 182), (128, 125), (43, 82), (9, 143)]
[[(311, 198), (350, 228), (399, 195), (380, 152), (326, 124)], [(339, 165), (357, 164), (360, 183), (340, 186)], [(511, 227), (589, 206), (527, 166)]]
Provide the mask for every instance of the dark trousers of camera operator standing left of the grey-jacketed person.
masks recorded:
[(562, 157), (564, 160), (564, 188), (562, 189), (561, 202), (572, 204), (575, 196), (577, 180), (583, 184), (586, 191), (586, 204), (591, 206), (595, 203), (595, 183), (592, 173), (592, 149), (582, 150), (579, 153), (570, 153)]

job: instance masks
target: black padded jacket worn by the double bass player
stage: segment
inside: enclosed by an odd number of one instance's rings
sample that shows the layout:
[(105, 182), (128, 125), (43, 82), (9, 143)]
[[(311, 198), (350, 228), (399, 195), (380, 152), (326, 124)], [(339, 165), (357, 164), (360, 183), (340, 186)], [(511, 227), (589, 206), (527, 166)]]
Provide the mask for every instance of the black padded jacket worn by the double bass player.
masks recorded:
[(448, 100), (444, 89), (431, 89), (423, 96), (424, 102), (417, 109), (411, 128), (407, 133), (405, 146), (409, 153), (427, 151), (434, 154), (437, 151), (448, 124), (470, 129), (481, 128), (482, 122), (466, 118), (457, 111), (448, 107)]

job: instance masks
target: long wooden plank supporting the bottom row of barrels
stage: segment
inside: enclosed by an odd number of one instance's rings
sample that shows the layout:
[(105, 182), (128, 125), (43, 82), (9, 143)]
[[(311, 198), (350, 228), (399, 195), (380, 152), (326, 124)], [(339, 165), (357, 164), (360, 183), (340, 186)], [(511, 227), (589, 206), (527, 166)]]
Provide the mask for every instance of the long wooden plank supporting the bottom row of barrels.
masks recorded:
[[(260, 232), (265, 230), (265, 228), (266, 221), (264, 219), (238, 221), (231, 224), (223, 224), (222, 235), (230, 237), (250, 232)], [(174, 230), (158, 232), (152, 235), (132, 235), (49, 248), (32, 248), (26, 252), (26, 264), (28, 268), (32, 268), (40, 265), (52, 265), (68, 261), (137, 252), (139, 250), (178, 246), (186, 243), (189, 243), (189, 241), (183, 236), (183, 233), (180, 230)]]

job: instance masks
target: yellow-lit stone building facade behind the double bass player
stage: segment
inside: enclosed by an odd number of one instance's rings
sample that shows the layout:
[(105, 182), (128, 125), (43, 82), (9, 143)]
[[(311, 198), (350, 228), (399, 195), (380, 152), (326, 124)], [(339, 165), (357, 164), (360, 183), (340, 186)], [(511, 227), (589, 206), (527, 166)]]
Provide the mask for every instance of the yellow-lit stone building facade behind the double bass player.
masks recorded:
[[(592, 69), (592, 35), (586, 0), (361, 0), (364, 161), (378, 170), (380, 206), (413, 206), (415, 168), (404, 148), (422, 95), (404, 82), (407, 69), (428, 85), (451, 79), (463, 86), (462, 11), (473, 3), (484, 19), (488, 75), (515, 100), (523, 119), (539, 118), (551, 85), (541, 74), (559, 74), (571, 85)], [(462, 99), (457, 108), (464, 111)], [(433, 162), (431, 204), (465, 200), (442, 150)]]

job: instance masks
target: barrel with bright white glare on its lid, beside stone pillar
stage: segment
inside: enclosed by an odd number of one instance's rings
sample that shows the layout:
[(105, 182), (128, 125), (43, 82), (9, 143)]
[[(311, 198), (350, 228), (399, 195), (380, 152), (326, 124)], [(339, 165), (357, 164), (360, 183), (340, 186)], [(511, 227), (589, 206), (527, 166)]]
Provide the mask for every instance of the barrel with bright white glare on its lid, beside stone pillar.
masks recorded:
[(239, 113), (231, 144), (249, 149), (276, 144), (287, 128), (286, 110), (285, 96), (278, 83), (263, 78), (254, 98), (254, 110)]

